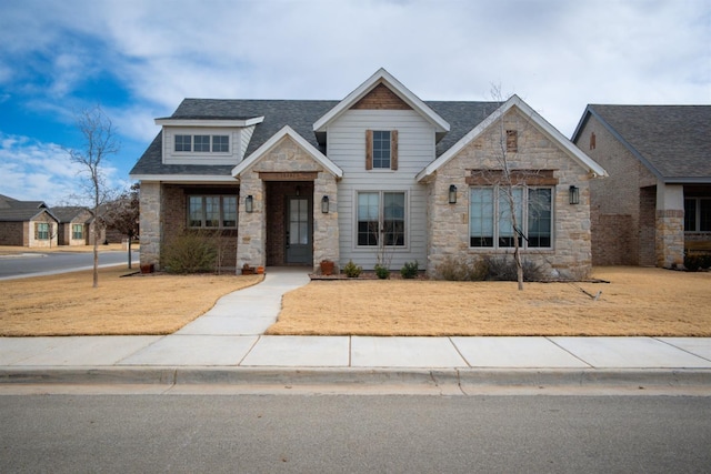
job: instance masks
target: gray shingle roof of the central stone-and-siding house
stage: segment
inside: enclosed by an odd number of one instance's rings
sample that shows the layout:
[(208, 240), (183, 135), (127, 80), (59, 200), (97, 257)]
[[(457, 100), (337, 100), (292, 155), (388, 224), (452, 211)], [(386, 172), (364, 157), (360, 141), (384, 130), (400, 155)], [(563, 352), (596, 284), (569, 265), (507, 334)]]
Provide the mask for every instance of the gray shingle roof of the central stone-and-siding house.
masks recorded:
[[(184, 99), (171, 119), (184, 120), (246, 120), (264, 117), (250, 140), (246, 158), (253, 153), (284, 125), (291, 127), (317, 149), (324, 151), (313, 131), (313, 123), (338, 105), (337, 100), (230, 100)], [(501, 105), (500, 102), (425, 101), (450, 123), (450, 131), (437, 144), (437, 157), (444, 153), (462, 137)], [(162, 135), (158, 133), (131, 174), (194, 174), (230, 175), (232, 165), (162, 164)]]

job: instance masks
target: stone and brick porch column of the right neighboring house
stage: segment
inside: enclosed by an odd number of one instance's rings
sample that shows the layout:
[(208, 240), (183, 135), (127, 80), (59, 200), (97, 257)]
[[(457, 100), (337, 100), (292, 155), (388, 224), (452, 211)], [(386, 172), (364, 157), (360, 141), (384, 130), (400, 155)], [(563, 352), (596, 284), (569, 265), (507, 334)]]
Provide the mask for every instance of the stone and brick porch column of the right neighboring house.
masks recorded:
[(684, 263), (684, 188), (657, 183), (654, 253), (657, 266)]

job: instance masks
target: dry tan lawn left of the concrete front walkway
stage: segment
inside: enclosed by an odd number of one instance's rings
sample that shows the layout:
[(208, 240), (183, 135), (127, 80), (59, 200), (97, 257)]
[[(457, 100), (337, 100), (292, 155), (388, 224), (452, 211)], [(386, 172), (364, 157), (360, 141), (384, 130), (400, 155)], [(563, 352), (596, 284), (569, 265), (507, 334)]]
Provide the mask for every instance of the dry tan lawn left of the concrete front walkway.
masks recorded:
[(0, 335), (170, 334), (262, 275), (126, 276), (124, 266), (0, 282)]

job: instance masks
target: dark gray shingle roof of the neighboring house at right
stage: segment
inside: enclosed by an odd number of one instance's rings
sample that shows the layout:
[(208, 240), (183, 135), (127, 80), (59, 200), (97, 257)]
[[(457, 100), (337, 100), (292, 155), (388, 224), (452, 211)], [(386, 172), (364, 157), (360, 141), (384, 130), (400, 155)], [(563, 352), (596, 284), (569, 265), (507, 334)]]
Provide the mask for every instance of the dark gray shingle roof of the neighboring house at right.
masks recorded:
[(594, 117), (658, 179), (711, 182), (711, 105), (590, 104), (573, 133)]

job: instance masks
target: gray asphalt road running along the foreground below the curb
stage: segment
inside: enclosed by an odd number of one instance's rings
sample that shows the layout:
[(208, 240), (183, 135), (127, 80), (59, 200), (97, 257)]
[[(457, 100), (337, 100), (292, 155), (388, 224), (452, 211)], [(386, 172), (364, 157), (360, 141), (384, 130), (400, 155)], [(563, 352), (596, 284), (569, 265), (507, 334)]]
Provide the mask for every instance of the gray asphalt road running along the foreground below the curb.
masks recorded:
[(3, 472), (708, 472), (711, 397), (0, 396)]

